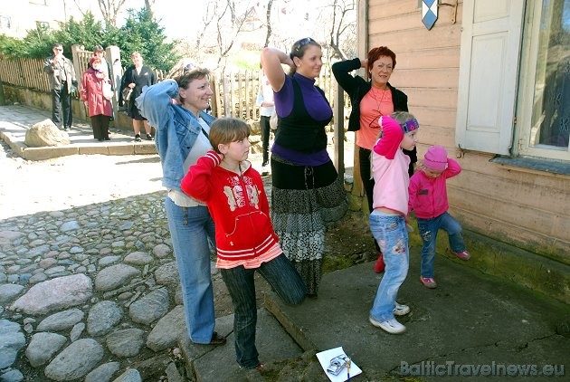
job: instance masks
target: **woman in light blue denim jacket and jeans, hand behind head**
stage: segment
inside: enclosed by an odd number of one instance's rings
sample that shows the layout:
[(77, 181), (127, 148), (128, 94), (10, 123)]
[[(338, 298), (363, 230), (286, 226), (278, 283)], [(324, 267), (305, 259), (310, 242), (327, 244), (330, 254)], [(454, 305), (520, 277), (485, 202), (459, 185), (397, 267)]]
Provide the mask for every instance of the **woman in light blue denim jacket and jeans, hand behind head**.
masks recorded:
[[(168, 228), (174, 246), (188, 336), (197, 344), (222, 345), (225, 338), (214, 331), (214, 291), (210, 276), (210, 245), (214, 245), (214, 221), (208, 208), (180, 189), (180, 181), (212, 148), (208, 139), (214, 117), (204, 112), (213, 91), (209, 72), (195, 69), (146, 87), (137, 107), (157, 128), (155, 143), (162, 164), (162, 183)], [(209, 243), (211, 242), (211, 243)]]

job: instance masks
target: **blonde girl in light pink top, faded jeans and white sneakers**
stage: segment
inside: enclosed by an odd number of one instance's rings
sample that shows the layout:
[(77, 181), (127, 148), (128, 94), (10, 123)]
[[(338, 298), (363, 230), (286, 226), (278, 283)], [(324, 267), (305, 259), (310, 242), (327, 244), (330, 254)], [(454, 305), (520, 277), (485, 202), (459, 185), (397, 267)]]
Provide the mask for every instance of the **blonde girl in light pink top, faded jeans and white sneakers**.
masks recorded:
[[(392, 117), (380, 117), (381, 138), (372, 149), (372, 173), (375, 180), (370, 230), (384, 253), (385, 272), (376, 291), (370, 323), (388, 333), (402, 333), (404, 325), (394, 315), (410, 312), (396, 296), (408, 274), (409, 250), (406, 216), (408, 215), (408, 166), (410, 158), (402, 149), (415, 147), (419, 128), (413, 115), (398, 111)], [(398, 120), (396, 120), (398, 119)]]

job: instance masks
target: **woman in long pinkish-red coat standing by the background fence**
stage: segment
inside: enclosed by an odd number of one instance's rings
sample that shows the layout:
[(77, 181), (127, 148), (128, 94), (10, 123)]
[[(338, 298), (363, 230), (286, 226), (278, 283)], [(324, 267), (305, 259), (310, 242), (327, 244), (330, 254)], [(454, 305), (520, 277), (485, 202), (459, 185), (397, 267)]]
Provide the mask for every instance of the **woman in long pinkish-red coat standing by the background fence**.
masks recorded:
[(100, 142), (109, 140), (109, 120), (112, 115), (109, 77), (103, 72), (101, 59), (91, 57), (90, 68), (81, 77), (81, 100), (87, 106), (93, 137)]

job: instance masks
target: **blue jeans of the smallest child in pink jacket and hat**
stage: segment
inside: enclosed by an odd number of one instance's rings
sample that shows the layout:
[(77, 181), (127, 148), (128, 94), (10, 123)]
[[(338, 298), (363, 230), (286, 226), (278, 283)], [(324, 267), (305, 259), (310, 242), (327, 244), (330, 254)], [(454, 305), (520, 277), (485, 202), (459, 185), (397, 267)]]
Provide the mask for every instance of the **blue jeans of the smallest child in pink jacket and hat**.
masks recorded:
[(461, 224), (448, 213), (433, 217), (432, 219), (417, 218), (418, 229), (422, 236), (422, 269), (423, 277), (433, 277), (433, 263), (435, 261), (435, 244), (440, 229), (447, 232), (450, 239), (450, 248), (453, 253), (465, 251), (465, 243), (461, 234)]

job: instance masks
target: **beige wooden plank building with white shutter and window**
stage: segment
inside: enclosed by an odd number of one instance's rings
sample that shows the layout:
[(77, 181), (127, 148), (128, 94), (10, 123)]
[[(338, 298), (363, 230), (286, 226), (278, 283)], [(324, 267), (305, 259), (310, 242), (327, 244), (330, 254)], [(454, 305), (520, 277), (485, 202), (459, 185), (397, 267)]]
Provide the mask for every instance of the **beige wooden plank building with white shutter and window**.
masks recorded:
[(360, 0), (357, 43), (396, 53), (418, 157), (461, 163), (470, 264), (570, 302), (570, 0)]

